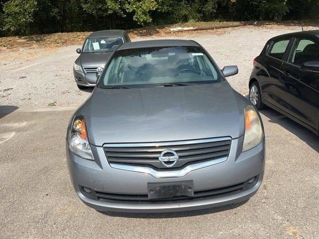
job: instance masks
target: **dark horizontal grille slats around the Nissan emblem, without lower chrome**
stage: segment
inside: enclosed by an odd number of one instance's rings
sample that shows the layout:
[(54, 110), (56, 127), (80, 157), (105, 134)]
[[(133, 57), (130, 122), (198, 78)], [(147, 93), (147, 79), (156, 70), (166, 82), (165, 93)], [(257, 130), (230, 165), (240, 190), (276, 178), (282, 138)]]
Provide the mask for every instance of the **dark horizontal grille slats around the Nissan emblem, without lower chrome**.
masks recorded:
[[(152, 145), (152, 143), (141, 143), (128, 147), (123, 144), (120, 147), (116, 144), (114, 146), (108, 144), (104, 147), (104, 151), (109, 163), (147, 166), (157, 170), (173, 170), (193, 163), (228, 157), (231, 139), (179, 141), (177, 145), (176, 142), (167, 142), (159, 143), (163, 146), (147, 146), (150, 144)], [(179, 156), (173, 167), (167, 168), (159, 160), (160, 153), (165, 149), (172, 149)]]

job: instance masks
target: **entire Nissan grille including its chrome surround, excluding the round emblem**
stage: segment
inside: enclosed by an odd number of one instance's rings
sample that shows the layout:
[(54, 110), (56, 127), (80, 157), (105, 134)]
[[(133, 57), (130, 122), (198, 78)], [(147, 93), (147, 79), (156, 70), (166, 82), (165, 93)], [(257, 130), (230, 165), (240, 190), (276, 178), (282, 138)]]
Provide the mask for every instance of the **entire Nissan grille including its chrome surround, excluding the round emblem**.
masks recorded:
[[(183, 177), (192, 170), (227, 160), (231, 139), (219, 137), (168, 142), (105, 143), (103, 147), (113, 168), (148, 173), (157, 178)], [(168, 170), (160, 162), (159, 156), (169, 148), (178, 154), (179, 160)]]

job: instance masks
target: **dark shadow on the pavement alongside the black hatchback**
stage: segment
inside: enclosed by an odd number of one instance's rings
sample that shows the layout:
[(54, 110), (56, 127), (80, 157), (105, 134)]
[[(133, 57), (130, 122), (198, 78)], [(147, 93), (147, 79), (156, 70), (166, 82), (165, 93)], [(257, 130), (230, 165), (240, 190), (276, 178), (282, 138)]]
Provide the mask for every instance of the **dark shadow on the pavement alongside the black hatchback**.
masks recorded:
[(270, 108), (261, 110), (260, 113), (269, 118), (269, 122), (277, 123), (280, 126), (286, 128), (288, 131), (306, 142), (314, 150), (319, 152), (319, 137), (310, 129)]

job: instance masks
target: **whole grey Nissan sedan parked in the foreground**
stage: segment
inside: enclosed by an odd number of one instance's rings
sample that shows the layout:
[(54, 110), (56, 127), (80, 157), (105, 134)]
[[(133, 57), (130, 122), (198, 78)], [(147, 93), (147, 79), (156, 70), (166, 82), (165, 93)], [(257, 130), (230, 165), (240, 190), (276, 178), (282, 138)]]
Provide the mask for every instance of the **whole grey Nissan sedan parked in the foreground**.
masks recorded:
[(256, 108), (194, 41), (124, 43), (70, 119), (74, 189), (99, 211), (176, 212), (239, 203), (263, 179)]

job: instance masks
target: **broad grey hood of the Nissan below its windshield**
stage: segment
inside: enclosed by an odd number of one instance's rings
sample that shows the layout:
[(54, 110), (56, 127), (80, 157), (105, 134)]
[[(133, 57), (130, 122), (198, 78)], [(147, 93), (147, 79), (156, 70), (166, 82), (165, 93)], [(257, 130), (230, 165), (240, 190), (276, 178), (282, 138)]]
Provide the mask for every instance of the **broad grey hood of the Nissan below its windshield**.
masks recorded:
[(95, 88), (79, 109), (91, 144), (240, 137), (247, 100), (228, 82), (132, 88)]

